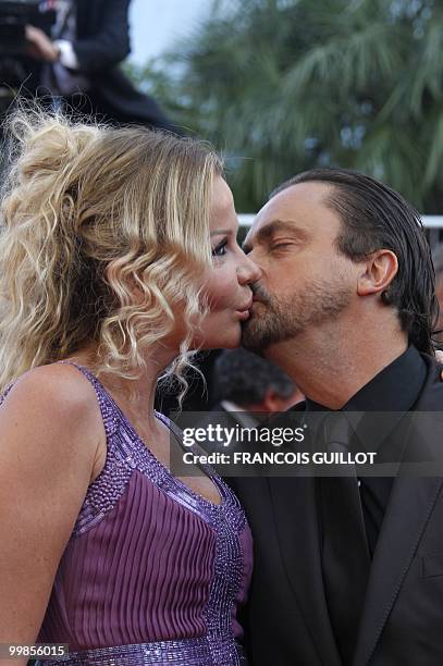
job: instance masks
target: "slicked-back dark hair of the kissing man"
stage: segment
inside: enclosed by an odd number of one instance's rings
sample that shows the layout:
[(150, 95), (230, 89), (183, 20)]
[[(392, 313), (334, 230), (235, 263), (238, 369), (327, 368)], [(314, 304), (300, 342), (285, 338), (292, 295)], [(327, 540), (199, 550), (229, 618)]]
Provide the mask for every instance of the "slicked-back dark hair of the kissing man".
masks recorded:
[(398, 272), (382, 293), (383, 303), (398, 311), (409, 344), (432, 354), (431, 341), (439, 316), (431, 250), (417, 210), (398, 193), (367, 175), (344, 169), (312, 169), (274, 189), (272, 198), (298, 183), (331, 185), (325, 203), (343, 223), (337, 248), (358, 261), (379, 249), (392, 250)]

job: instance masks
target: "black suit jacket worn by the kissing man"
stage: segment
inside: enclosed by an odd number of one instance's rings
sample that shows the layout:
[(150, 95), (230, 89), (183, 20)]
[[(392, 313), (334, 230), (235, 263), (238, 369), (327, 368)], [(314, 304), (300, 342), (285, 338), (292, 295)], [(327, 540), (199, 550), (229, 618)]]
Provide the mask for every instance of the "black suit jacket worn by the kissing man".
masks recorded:
[[(440, 368), (428, 372), (416, 409), (443, 407)], [(443, 446), (443, 419), (417, 442)], [(410, 446), (409, 446), (410, 445)], [(404, 471), (404, 470), (403, 470)], [(230, 480), (229, 480), (230, 481)], [(236, 479), (255, 539), (247, 626), (253, 666), (340, 666), (321, 572), (316, 480)], [(394, 480), (374, 552), (352, 666), (443, 664), (443, 478)], [(350, 665), (345, 665), (350, 666)]]

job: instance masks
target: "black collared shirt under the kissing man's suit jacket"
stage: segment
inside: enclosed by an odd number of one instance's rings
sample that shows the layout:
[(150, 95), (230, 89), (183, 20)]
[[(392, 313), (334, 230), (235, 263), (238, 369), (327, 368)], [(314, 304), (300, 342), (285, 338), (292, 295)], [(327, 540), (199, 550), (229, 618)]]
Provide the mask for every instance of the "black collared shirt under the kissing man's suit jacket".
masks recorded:
[[(342, 408), (343, 411), (358, 412), (405, 412), (414, 410), (421, 388), (424, 384), (427, 367), (420, 354), (415, 347), (408, 347), (404, 354), (398, 356), (392, 363), (381, 370), (370, 382), (360, 388)], [(306, 400), (308, 411), (330, 411), (313, 400)], [(368, 417), (366, 416), (366, 419)], [(365, 429), (366, 436), (370, 434), (369, 428)], [(370, 445), (367, 451), (380, 451), (383, 443), (386, 446), (393, 437), (380, 436), (376, 431), (372, 433)], [(364, 513), (365, 528), (371, 556), (376, 550), (377, 540), (383, 522), (384, 514), (391, 495), (393, 477), (364, 477), (360, 478), (360, 498)]]

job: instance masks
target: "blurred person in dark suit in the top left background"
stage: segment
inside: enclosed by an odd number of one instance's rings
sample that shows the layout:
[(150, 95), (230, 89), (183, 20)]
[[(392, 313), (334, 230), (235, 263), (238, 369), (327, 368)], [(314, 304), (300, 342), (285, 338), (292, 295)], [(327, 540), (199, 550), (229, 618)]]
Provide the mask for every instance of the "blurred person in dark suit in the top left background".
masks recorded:
[(26, 28), (29, 50), (40, 63), (38, 95), (49, 94), (101, 121), (179, 133), (157, 102), (120, 70), (131, 52), (130, 0), (56, 0), (54, 5), (50, 37), (41, 28)]

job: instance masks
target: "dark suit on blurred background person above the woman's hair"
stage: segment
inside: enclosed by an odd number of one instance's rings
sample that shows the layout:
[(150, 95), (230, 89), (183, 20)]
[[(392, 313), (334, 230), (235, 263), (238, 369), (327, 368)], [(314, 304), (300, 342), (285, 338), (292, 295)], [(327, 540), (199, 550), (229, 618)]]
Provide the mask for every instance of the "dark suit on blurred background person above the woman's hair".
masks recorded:
[[(99, 120), (152, 125), (177, 133), (157, 102), (133, 86), (120, 69), (128, 55), (130, 0), (74, 0), (79, 74), (90, 82), (84, 95), (66, 99), (75, 110)], [(40, 90), (41, 92), (42, 90)], [(87, 99), (86, 99), (87, 97)]]

